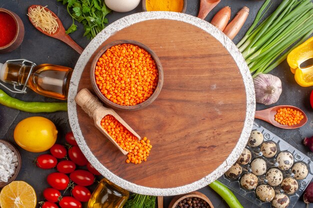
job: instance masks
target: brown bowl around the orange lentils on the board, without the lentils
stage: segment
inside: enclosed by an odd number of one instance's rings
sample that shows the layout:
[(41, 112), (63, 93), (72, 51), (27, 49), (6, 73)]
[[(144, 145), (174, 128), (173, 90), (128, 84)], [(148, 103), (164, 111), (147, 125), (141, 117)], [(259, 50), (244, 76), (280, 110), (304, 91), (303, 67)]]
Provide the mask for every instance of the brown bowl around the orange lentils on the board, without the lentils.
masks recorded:
[[(133, 44), (133, 45), (137, 45), (143, 49), (145, 49), (150, 55), (151, 57), (154, 59), (155, 63), (156, 63), (156, 67), (158, 70), (158, 82), (157, 82), (157, 86), (153, 92), (153, 94), (146, 99), (145, 101), (143, 101), (142, 103), (139, 103), (137, 105), (132, 105), (132, 106), (125, 106), (125, 105), (118, 105), (116, 103), (113, 103), (112, 101), (110, 101), (109, 99), (107, 99), (99, 90), (98, 86), (95, 83), (95, 77), (94, 77), (94, 70), (95, 70), (95, 66), (96, 66), (96, 62), (98, 61), (98, 59), (101, 57), (101, 55), (110, 47), (114, 46), (114, 45), (118, 45), (118, 44), (123, 44), (123, 43), (129, 43), (129, 44)], [(108, 105), (109, 107), (113, 108), (113, 109), (117, 109), (117, 110), (124, 110), (124, 111), (131, 111), (131, 110), (139, 110), (142, 109), (148, 105), (150, 105), (158, 96), (158, 94), (161, 91), (162, 85), (163, 85), (163, 69), (162, 69), (162, 65), (160, 60), (158, 59), (158, 57), (156, 56), (156, 54), (147, 46), (143, 45), (140, 42), (134, 41), (134, 40), (116, 40), (113, 42), (108, 43), (107, 45), (105, 45), (93, 58), (92, 63), (91, 63), (91, 68), (90, 68), (90, 80), (91, 80), (91, 85), (92, 88), (95, 92), (95, 94), (98, 96), (98, 98), (100, 98), (100, 100), (102, 102), (104, 102), (106, 105)]]

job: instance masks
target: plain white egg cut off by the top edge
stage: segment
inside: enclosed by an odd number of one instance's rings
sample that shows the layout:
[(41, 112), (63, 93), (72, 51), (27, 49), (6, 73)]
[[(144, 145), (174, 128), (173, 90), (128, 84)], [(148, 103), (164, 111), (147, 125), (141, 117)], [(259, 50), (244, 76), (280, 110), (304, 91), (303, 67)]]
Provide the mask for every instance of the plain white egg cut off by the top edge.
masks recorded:
[(127, 12), (137, 7), (140, 0), (104, 0), (104, 2), (113, 11)]

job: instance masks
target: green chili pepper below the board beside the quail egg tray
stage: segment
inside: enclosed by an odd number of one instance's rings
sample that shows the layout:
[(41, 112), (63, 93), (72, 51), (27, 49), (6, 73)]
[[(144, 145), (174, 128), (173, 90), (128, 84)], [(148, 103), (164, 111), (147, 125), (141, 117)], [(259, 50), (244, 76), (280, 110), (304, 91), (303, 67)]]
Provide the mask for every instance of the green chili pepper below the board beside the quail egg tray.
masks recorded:
[(213, 181), (208, 186), (221, 196), (230, 208), (243, 208), (233, 193), (220, 182)]

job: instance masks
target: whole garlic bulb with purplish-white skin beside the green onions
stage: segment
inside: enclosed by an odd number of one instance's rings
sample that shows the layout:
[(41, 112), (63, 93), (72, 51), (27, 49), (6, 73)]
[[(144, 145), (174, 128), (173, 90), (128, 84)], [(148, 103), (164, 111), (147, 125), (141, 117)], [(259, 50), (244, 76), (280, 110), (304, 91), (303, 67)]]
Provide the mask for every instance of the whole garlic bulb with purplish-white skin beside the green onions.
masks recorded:
[(279, 99), (281, 94), (281, 81), (270, 74), (258, 74), (253, 78), (255, 89), (255, 101), (264, 105), (270, 105)]

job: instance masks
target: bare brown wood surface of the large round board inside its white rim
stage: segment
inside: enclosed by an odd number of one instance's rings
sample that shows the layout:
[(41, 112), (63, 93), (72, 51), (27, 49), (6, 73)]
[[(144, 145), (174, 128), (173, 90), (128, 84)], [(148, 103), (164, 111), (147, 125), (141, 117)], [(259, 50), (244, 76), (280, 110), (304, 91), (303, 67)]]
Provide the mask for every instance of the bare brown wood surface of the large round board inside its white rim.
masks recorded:
[[(147, 162), (126, 164), (118, 151), (77, 107), (79, 126), (91, 152), (109, 171), (149, 188), (174, 188), (207, 176), (236, 145), (246, 112), (239, 69), (210, 34), (176, 20), (147, 20), (111, 35), (105, 44), (133, 39), (151, 48), (163, 66), (164, 83), (154, 102), (132, 112), (116, 111), (152, 144)], [(86, 64), (78, 91), (92, 91)]]

